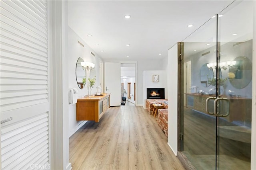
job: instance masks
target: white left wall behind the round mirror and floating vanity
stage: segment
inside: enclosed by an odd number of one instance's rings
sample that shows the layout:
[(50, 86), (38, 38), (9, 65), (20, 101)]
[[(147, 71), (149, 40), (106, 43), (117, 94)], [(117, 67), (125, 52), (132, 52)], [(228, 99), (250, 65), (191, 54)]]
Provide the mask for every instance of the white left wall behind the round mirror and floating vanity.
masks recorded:
[[(82, 47), (77, 41), (80, 41)], [(94, 53), (95, 57), (91, 54)], [(87, 87), (80, 89), (76, 82), (76, 61), (81, 57), (84, 61), (95, 63), (94, 70), (91, 71), (91, 78), (96, 75), (96, 83), (92, 93), (96, 92), (96, 87), (100, 84), (99, 57), (92, 49), (79, 37), (70, 27), (68, 27), (68, 88), (77, 88), (78, 97), (83, 98), (88, 94)], [(68, 105), (69, 137), (75, 133), (86, 121), (76, 121), (76, 104)]]

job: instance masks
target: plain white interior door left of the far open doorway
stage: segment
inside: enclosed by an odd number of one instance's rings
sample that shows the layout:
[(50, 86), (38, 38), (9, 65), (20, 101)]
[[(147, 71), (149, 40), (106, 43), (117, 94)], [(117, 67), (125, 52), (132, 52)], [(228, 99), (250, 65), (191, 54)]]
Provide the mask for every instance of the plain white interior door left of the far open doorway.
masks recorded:
[(120, 106), (121, 98), (121, 64), (105, 63), (105, 86), (104, 92), (111, 93), (110, 106)]

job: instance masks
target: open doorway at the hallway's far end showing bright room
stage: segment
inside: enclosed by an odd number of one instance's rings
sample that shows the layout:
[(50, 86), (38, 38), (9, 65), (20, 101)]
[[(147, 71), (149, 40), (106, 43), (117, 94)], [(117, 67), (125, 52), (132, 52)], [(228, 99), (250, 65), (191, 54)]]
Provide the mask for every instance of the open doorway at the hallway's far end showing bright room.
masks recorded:
[[(134, 84), (134, 86), (132, 86)], [(126, 105), (136, 105), (136, 63), (121, 63), (122, 96)], [(122, 100), (122, 99), (121, 99)]]

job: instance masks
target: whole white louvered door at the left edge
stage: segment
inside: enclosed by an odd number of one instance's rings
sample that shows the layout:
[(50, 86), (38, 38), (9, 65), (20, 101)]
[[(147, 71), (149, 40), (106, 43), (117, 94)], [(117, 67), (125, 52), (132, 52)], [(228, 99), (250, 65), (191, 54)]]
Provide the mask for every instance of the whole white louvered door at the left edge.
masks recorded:
[(1, 168), (49, 169), (47, 1), (0, 6)]

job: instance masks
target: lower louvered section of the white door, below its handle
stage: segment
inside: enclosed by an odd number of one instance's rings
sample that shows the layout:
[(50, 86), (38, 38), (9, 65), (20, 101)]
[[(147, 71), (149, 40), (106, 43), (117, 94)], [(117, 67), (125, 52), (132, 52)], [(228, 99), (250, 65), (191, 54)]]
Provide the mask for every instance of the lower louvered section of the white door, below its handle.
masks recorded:
[[(39, 164), (38, 161), (31, 161), (41, 154), (40, 149), (44, 148), (45, 151), (42, 152), (48, 152), (48, 113), (39, 114), (4, 128), (1, 145), (2, 169), (24, 169), (26, 162)], [(39, 161), (47, 157), (42, 155)]]

